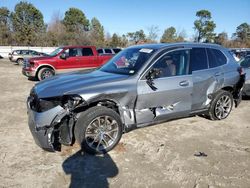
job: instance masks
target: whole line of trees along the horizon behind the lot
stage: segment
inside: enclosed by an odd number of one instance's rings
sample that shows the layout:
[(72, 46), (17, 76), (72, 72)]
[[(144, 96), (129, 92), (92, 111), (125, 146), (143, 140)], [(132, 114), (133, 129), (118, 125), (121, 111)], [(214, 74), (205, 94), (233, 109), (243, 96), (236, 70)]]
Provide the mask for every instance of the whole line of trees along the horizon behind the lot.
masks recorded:
[[(188, 41), (210, 42), (225, 47), (250, 47), (250, 25), (240, 24), (233, 36), (226, 32), (216, 34), (215, 22), (211, 12), (199, 10), (194, 21), (194, 36)], [(55, 13), (50, 23), (46, 24), (43, 14), (31, 3), (21, 1), (13, 12), (0, 7), (0, 45), (16, 46), (63, 46), (63, 45), (95, 45), (97, 47), (126, 47), (133, 44), (158, 42), (158, 26), (144, 30), (128, 32), (122, 36), (105, 33), (103, 25), (94, 17), (87, 19), (83, 11), (69, 8), (63, 18)], [(185, 30), (179, 32), (175, 27), (164, 30), (161, 43), (186, 41)]]

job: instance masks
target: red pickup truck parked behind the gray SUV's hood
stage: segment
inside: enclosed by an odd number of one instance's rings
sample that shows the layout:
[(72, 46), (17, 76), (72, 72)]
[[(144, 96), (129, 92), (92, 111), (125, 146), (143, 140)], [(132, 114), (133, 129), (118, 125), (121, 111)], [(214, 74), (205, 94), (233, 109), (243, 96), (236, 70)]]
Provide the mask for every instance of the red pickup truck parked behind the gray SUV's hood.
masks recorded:
[(49, 56), (25, 60), (22, 73), (29, 78), (43, 80), (58, 73), (99, 67), (111, 57), (99, 56), (94, 46), (65, 46), (57, 48)]

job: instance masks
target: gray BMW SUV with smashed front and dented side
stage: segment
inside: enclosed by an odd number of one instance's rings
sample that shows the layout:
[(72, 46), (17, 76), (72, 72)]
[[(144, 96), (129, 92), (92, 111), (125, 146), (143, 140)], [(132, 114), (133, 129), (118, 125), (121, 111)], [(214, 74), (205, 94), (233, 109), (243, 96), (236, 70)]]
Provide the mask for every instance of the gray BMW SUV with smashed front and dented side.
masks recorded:
[(88, 153), (105, 153), (135, 128), (197, 114), (225, 119), (240, 102), (241, 70), (218, 45), (132, 46), (99, 69), (36, 84), (27, 100), (29, 128), (45, 150), (76, 140)]

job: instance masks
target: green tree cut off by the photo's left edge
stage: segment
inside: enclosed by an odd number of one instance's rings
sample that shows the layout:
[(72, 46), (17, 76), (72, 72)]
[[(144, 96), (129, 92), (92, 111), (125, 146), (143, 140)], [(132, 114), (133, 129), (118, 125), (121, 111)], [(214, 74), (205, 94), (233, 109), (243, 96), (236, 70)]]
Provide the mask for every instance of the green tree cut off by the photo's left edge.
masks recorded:
[(0, 45), (11, 42), (10, 11), (6, 7), (0, 8)]

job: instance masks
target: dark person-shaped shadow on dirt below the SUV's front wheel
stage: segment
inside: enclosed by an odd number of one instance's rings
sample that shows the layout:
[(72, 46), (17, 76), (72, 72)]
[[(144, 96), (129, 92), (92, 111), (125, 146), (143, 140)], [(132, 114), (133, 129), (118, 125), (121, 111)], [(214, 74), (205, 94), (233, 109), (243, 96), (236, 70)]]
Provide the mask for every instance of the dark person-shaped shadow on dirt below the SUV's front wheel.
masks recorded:
[(71, 175), (70, 188), (109, 187), (108, 179), (115, 177), (119, 170), (110, 157), (89, 155), (78, 151), (62, 164), (65, 174)]

